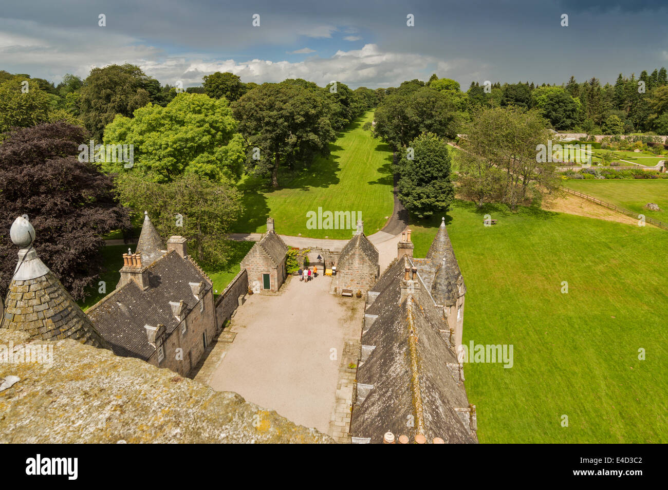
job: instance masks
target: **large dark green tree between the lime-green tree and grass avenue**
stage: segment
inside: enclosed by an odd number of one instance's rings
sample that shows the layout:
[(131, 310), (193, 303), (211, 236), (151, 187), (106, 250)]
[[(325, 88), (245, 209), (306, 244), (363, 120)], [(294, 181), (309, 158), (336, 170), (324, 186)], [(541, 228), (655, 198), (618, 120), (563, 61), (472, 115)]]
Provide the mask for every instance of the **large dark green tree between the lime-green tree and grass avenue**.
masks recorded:
[(330, 104), (322, 89), (295, 83), (263, 83), (243, 95), (232, 111), (248, 141), (248, 166), (258, 174), (271, 173), (277, 188), (281, 166), (309, 165), (317, 155), (328, 156), (335, 138)]

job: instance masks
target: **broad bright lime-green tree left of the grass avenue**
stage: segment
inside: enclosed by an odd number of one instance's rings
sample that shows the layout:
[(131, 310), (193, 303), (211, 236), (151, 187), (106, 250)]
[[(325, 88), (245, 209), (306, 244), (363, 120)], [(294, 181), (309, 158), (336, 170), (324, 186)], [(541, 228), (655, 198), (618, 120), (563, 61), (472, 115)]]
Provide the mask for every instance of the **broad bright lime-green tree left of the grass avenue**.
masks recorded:
[(156, 182), (184, 173), (236, 181), (246, 158), (237, 126), (226, 99), (180, 93), (166, 107), (137, 109), (132, 119), (117, 115), (104, 131), (104, 144), (132, 144), (134, 166), (128, 170), (118, 161), (101, 165), (107, 173), (140, 173)]

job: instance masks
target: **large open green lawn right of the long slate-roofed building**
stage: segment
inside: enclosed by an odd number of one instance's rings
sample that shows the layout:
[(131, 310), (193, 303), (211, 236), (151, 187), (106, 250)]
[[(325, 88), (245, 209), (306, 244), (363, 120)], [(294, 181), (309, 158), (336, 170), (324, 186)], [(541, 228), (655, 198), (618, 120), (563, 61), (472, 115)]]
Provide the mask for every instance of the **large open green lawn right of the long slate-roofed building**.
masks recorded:
[[(498, 224), (484, 227), (487, 213)], [(511, 369), (464, 368), (480, 442), (667, 443), (668, 234), (463, 202), (446, 220), (468, 288), (464, 342), (514, 345)], [(438, 222), (411, 225), (415, 256)]]

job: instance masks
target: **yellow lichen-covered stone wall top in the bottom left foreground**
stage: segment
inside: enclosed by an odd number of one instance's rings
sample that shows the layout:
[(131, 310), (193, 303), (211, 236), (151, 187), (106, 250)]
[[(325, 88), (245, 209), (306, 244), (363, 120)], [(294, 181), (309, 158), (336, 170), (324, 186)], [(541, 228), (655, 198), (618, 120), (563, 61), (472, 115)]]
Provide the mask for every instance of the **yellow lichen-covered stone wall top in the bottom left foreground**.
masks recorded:
[[(41, 363), (7, 348), (53, 346)], [(34, 341), (0, 328), (0, 443), (333, 443), (240, 395), (74, 340)], [(0, 357), (2, 357), (0, 355)], [(11, 361), (11, 359), (9, 359)]]

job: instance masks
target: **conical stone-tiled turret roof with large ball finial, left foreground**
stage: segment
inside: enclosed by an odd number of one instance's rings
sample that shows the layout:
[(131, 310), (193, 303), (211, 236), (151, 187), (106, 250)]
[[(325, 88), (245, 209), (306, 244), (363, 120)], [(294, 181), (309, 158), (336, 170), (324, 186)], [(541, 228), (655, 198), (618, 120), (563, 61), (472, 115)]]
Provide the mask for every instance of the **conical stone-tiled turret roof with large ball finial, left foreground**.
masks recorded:
[(3, 328), (24, 330), (33, 338), (71, 338), (83, 344), (107, 347), (58, 278), (39, 259), (32, 246), (35, 230), (27, 216), (11, 226), (12, 241), (22, 246), (19, 262), (9, 283)]

